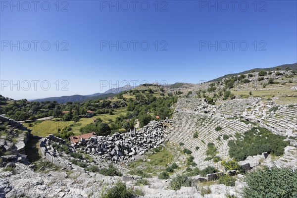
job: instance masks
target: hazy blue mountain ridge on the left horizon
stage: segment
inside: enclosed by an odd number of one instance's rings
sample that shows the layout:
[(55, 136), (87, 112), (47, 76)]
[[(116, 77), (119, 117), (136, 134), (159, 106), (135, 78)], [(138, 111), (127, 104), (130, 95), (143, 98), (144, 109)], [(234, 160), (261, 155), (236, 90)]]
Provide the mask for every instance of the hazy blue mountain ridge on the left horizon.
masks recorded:
[(61, 96), (61, 97), (50, 97), (50, 98), (45, 98), (45, 99), (34, 99), (31, 101), (57, 101), (58, 103), (66, 103), (66, 102), (80, 102), (80, 101), (86, 101), (86, 100), (94, 100), (94, 99), (105, 99), (105, 98), (110, 98), (114, 97), (116, 94), (121, 93), (123, 91), (127, 91), (133, 89), (132, 86), (126, 85), (124, 87), (120, 88), (112, 88), (107, 90), (104, 93), (96, 93), (92, 95), (73, 95), (73, 96)]

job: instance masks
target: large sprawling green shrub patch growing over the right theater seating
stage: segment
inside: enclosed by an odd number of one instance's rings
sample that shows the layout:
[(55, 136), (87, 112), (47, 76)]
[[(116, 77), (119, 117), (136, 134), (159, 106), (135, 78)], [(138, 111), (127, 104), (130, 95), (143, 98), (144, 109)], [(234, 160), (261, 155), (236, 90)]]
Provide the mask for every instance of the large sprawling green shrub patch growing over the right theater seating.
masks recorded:
[(284, 141), (285, 139), (286, 137), (273, 134), (268, 129), (253, 127), (244, 133), (243, 139), (228, 142), (229, 155), (238, 161), (262, 152), (271, 152), (279, 156), (289, 145), (288, 141)]

